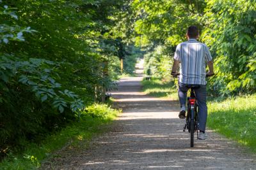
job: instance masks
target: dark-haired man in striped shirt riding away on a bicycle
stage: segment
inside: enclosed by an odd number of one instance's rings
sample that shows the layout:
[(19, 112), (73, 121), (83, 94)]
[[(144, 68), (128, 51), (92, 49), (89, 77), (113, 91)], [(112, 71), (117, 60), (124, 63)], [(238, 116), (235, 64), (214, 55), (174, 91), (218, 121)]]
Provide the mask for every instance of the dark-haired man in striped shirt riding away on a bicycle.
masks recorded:
[[(206, 105), (206, 81), (205, 76), (214, 74), (213, 62), (209, 48), (196, 41), (199, 37), (199, 31), (196, 26), (189, 26), (186, 34), (188, 41), (177, 45), (174, 62), (172, 66), (172, 75), (177, 76), (177, 67), (180, 64), (179, 76), (179, 118), (186, 117), (186, 98), (189, 85), (200, 85), (195, 89), (196, 99), (198, 101), (198, 129), (200, 130), (199, 139), (205, 139), (205, 125), (207, 120)], [(209, 67), (208, 73), (205, 71), (205, 63)]]

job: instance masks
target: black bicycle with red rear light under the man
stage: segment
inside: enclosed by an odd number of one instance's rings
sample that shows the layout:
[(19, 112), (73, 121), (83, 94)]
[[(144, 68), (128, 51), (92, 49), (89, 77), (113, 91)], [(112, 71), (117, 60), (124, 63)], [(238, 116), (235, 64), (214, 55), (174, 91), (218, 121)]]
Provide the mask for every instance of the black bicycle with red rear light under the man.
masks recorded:
[[(207, 74), (206, 77), (213, 76), (214, 74)], [(173, 77), (178, 77), (179, 74), (173, 75)], [(186, 115), (186, 124), (183, 127), (183, 132), (188, 129), (190, 134), (190, 147), (194, 147), (194, 134), (196, 132), (197, 139), (199, 139), (198, 134), (198, 103), (196, 101), (195, 89), (199, 89), (200, 85), (187, 85), (188, 91), (190, 92), (190, 96), (188, 97), (187, 107), (188, 112)]]

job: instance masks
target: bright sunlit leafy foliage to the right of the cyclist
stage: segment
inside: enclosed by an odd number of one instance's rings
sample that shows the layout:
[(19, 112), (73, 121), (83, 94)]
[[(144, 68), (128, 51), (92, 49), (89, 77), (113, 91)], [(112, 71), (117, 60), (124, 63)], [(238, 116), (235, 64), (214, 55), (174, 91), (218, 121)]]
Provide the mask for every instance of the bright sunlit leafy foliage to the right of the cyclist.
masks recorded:
[(203, 41), (214, 54), (214, 89), (223, 95), (253, 92), (256, 87), (254, 1), (207, 1)]

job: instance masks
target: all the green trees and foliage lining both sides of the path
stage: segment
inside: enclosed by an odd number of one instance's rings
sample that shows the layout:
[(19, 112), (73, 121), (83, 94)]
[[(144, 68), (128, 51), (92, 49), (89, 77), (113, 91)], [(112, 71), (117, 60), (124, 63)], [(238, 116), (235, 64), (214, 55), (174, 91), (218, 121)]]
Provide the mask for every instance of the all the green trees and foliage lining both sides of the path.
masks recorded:
[(1, 157), (93, 117), (86, 108), (115, 87), (120, 59), (124, 73), (144, 57), (145, 70), (172, 80), (189, 25), (214, 58), (211, 96), (254, 93), (255, 18), (253, 0), (0, 0)]

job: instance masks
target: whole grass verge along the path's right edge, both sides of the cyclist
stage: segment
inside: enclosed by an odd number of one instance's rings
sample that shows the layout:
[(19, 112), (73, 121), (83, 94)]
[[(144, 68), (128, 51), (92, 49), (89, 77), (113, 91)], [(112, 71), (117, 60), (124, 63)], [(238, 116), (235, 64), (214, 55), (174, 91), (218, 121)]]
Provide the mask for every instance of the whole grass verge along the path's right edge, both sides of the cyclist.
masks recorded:
[[(154, 97), (178, 99), (173, 82), (143, 80), (143, 92)], [(236, 98), (211, 97), (207, 103), (207, 126), (256, 152), (256, 94)]]

